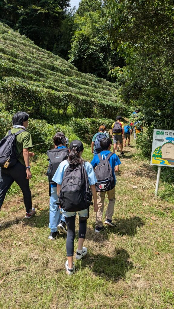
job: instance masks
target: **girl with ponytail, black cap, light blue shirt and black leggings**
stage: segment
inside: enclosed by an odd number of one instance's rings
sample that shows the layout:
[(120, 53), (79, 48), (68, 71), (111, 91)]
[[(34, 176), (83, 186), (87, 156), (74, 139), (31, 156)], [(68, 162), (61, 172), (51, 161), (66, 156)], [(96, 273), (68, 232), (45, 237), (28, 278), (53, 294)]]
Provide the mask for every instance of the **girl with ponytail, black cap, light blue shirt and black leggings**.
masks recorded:
[[(59, 203), (67, 225), (67, 261), (65, 263), (68, 275), (73, 275), (74, 239), (76, 235), (76, 214), (79, 214), (79, 241), (76, 259), (80, 260), (87, 253), (83, 247), (86, 235), (88, 208), (94, 199), (94, 211), (98, 211), (95, 183), (97, 181), (92, 165), (81, 159), (84, 150), (81, 141), (70, 143), (68, 160), (60, 163), (54, 174), (53, 181), (57, 183)], [(90, 187), (89, 187), (90, 186)], [(92, 191), (92, 192), (91, 192)], [(59, 206), (59, 207), (60, 207)]]

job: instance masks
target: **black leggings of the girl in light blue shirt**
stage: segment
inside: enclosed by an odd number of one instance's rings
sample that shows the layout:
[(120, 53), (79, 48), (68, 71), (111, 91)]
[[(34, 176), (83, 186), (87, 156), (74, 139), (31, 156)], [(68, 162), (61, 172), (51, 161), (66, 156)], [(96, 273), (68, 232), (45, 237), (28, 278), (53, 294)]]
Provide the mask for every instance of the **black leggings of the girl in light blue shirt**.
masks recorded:
[[(74, 255), (74, 239), (76, 235), (76, 216), (65, 217), (67, 225), (67, 256)], [(79, 216), (79, 238), (85, 238), (86, 235), (87, 217)]]

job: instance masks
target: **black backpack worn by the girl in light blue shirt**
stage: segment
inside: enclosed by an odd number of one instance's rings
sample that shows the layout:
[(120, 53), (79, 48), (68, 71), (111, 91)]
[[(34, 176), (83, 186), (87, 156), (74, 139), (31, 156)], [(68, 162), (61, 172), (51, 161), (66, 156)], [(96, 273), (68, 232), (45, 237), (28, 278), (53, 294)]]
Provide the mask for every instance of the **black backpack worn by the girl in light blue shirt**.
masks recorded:
[(75, 169), (66, 168), (59, 202), (65, 211), (80, 211), (89, 208), (92, 201), (92, 192), (89, 188), (88, 175), (83, 165), (78, 165)]

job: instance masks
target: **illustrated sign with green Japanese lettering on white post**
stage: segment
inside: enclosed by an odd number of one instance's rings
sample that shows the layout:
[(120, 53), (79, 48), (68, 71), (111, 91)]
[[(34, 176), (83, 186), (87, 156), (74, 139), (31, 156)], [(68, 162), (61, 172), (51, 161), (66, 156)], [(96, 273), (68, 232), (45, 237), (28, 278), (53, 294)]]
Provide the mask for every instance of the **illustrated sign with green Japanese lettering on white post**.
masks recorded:
[(174, 167), (174, 131), (154, 129), (151, 165), (158, 166), (155, 196), (158, 196), (161, 167)]

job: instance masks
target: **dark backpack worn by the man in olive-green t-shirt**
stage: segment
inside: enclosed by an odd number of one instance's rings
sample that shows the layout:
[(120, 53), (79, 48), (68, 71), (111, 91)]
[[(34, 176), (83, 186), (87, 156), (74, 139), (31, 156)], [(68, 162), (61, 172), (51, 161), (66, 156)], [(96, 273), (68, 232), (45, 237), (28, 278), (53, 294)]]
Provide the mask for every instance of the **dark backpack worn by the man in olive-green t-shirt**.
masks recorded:
[(16, 133), (11, 133), (11, 130), (8, 131), (8, 135), (2, 138), (0, 141), (0, 167), (11, 167), (16, 164), (19, 159), (20, 154), (16, 154), (16, 136), (24, 130), (20, 130)]

